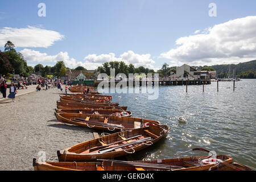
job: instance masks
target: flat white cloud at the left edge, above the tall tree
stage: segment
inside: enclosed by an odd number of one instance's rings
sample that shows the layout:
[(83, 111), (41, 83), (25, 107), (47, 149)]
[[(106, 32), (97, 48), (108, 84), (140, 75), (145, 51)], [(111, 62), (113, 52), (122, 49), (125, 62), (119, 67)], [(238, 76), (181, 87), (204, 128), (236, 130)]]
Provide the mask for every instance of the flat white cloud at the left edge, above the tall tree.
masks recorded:
[(39, 27), (27, 28), (4, 27), (0, 29), (0, 47), (10, 40), (16, 47), (44, 47), (64, 38), (59, 32), (46, 30)]

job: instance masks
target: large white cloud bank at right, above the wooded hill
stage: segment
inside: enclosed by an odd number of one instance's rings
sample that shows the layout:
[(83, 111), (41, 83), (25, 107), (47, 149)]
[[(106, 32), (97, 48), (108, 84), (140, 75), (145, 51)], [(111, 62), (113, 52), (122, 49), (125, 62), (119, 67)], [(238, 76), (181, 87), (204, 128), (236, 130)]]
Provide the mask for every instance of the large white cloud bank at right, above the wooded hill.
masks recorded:
[(213, 65), (253, 60), (256, 57), (256, 16), (217, 24), (200, 34), (181, 37), (176, 44), (177, 48), (160, 55), (170, 59), (172, 65)]

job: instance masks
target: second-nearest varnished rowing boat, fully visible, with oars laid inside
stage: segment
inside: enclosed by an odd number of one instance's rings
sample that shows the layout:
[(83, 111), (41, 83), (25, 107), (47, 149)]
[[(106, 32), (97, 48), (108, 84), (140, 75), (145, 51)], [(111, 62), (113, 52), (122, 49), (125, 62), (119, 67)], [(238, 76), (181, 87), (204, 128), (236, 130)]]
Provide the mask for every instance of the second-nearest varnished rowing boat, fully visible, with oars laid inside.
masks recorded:
[(125, 130), (57, 151), (57, 156), (59, 162), (84, 162), (135, 154), (166, 137), (169, 129), (167, 125), (148, 125)]

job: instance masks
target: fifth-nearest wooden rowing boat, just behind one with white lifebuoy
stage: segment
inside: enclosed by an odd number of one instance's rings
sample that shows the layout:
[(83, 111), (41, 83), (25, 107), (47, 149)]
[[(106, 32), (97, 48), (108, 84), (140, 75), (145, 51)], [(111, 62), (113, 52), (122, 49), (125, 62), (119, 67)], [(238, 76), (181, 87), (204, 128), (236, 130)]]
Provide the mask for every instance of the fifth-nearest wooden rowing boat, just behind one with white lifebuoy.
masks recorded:
[(71, 103), (71, 102), (60, 102), (57, 101), (57, 106), (68, 106), (68, 107), (75, 107), (75, 108), (94, 108), (94, 109), (123, 109), (127, 110), (127, 106), (108, 106), (108, 105), (99, 105), (99, 104), (85, 104), (85, 103)]

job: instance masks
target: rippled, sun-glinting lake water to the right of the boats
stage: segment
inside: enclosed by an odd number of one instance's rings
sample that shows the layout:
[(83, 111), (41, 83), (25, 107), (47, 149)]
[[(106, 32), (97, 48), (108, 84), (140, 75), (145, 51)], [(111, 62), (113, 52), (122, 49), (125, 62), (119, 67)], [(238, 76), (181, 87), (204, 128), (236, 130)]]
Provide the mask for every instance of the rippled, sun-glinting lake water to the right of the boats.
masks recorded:
[[(113, 102), (128, 106), (133, 117), (158, 120), (171, 127), (166, 139), (138, 152), (135, 160), (176, 158), (177, 152), (202, 147), (256, 169), (256, 80), (210, 85), (159, 86), (157, 100), (147, 93), (109, 93)], [(121, 98), (118, 98), (121, 96)], [(135, 99), (137, 98), (137, 100)], [(179, 123), (183, 116), (187, 123)], [(180, 156), (207, 155), (188, 152)]]

